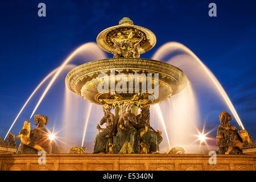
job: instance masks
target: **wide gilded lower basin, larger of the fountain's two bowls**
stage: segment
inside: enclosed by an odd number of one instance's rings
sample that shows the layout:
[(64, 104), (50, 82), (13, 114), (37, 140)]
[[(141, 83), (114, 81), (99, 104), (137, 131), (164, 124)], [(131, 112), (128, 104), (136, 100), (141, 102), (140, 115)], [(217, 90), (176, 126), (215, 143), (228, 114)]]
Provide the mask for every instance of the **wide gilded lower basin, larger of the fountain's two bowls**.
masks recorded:
[[(105, 77), (99, 77), (101, 73)], [(142, 106), (167, 100), (187, 86), (188, 78), (179, 68), (162, 61), (119, 57), (82, 64), (68, 73), (65, 84), (72, 92), (95, 104), (113, 105), (128, 100)], [(99, 84), (108, 86), (99, 92)], [(148, 89), (150, 84), (154, 92)]]

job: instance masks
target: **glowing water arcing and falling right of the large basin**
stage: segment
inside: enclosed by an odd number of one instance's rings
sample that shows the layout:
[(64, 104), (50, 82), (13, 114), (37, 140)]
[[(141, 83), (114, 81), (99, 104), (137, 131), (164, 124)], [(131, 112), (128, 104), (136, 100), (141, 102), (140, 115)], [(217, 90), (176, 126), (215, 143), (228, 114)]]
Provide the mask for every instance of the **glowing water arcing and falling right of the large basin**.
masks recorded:
[[(214, 100), (225, 102), (238, 125), (244, 129), (236, 109), (234, 109), (232, 102), (220, 82), (190, 49), (183, 44), (169, 42), (160, 47), (152, 56), (152, 59), (166, 61), (169, 64), (175, 65), (185, 72), (190, 81), (187, 88), (172, 96), (168, 101), (160, 104), (160, 110), (164, 113), (164, 121), (166, 122), (164, 127), (168, 130), (168, 137), (170, 137), (172, 147), (181, 146), (186, 152), (199, 151), (200, 141), (197, 136), (201, 132), (200, 127), (203, 122), (200, 118), (199, 106), (197, 105), (200, 97), (214, 98)], [(203, 90), (204, 93), (198, 93), (196, 95), (195, 89), (197, 92)], [(207, 105), (214, 107), (213, 102), (205, 100), (204, 106)], [(218, 110), (219, 108), (214, 109)], [(210, 113), (211, 111), (207, 107), (206, 112)], [(223, 110), (220, 110), (219, 113), (221, 111)], [(159, 120), (161, 118), (158, 117), (156, 119)], [(218, 115), (216, 115), (216, 126), (218, 126), (217, 123)], [(162, 148), (167, 151), (167, 144), (162, 144)]]

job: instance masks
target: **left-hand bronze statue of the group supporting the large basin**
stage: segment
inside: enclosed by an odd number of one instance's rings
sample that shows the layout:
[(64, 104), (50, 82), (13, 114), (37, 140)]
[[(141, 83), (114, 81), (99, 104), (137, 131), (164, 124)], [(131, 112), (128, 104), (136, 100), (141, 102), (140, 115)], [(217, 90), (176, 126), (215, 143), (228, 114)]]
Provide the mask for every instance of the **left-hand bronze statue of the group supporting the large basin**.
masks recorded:
[[(106, 123), (106, 128), (102, 129), (97, 125), (98, 135), (94, 140), (93, 154), (105, 154), (109, 152), (109, 143), (113, 142), (113, 134), (115, 129), (114, 114), (110, 112), (111, 106), (105, 104), (103, 106), (104, 117), (100, 121), (100, 125)], [(101, 132), (100, 132), (101, 131)]]

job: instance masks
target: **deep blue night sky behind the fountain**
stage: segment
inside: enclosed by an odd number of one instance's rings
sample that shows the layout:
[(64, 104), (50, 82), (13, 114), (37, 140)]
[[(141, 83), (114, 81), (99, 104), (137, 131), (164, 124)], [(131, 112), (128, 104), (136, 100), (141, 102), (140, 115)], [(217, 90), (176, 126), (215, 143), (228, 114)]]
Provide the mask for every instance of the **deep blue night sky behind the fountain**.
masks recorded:
[[(40, 2), (46, 3), (46, 17), (38, 16)], [(217, 17), (208, 16), (211, 2), (217, 4)], [(77, 47), (96, 42), (99, 32), (127, 16), (156, 35), (156, 46), (141, 57), (150, 59), (170, 41), (187, 46), (218, 78), (243, 125), (256, 138), (255, 5), (255, 1), (1, 0), (0, 137), (5, 137), (24, 102), (49, 72)], [(63, 88), (64, 78), (58, 80)], [(63, 103), (63, 89), (53, 86), (50, 91), (35, 114), (52, 115), (49, 123), (57, 125), (61, 118), (52, 113), (62, 111), (55, 104)], [(18, 134), (40, 93), (11, 133)], [(219, 124), (218, 114), (208, 127)]]

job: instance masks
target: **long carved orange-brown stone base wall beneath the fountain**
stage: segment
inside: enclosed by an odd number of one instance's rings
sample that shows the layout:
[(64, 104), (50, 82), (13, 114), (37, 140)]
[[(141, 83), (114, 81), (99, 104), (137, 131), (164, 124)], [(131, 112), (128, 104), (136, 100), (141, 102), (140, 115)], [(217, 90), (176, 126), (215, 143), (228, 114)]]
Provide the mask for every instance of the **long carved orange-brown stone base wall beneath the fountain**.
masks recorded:
[(1, 171), (255, 171), (256, 155), (217, 155), (217, 164), (209, 164), (209, 155), (201, 154), (47, 154), (46, 164), (38, 164), (38, 155), (0, 155)]

